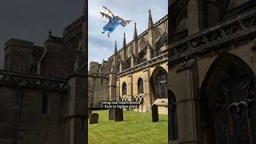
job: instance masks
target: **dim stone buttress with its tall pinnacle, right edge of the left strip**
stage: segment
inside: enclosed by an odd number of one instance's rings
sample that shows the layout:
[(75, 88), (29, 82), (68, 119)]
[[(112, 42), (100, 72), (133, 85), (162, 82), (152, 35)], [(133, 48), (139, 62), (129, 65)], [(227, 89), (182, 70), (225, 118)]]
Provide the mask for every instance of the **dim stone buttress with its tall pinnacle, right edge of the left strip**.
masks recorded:
[[(88, 77), (87, 70), (87, 35), (88, 35), (88, 2), (84, 2), (84, 13), (82, 22), (82, 50), (76, 59), (74, 74), (68, 79), (70, 94), (66, 98), (66, 137), (64, 144), (86, 144), (88, 139)], [(83, 66), (82, 66), (83, 64)]]

